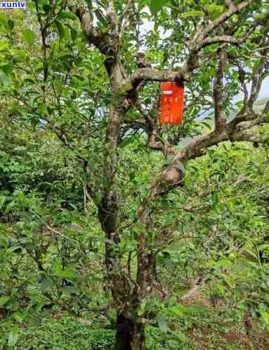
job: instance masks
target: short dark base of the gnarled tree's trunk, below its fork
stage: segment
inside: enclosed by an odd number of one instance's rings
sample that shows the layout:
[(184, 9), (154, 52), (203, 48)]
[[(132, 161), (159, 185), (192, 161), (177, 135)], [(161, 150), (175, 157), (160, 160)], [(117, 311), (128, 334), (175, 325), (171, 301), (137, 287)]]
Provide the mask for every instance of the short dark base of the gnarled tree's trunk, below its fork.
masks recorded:
[(114, 350), (145, 350), (145, 325), (119, 314)]

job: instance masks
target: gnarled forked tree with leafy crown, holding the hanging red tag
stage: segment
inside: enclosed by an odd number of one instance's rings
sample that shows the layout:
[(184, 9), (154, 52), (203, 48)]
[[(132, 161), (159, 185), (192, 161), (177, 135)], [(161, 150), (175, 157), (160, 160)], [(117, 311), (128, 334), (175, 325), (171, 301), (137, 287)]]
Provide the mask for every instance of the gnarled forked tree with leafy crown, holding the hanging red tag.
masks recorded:
[[(105, 284), (117, 309), (115, 350), (145, 350), (143, 305), (157, 285), (163, 235), (155, 209), (184, 186), (186, 164), (209, 147), (265, 141), (259, 127), (269, 122), (269, 102), (262, 111), (254, 104), (269, 73), (269, 6), (265, 0), (36, 0), (27, 6), (28, 27), (17, 34), (13, 19), (0, 13), (2, 94), (18, 123), (53, 130), (77, 158), (105, 233)], [(158, 86), (152, 82), (164, 81), (185, 82), (180, 127), (157, 123)], [(214, 115), (213, 130), (197, 137), (195, 119), (206, 111)], [(147, 136), (147, 147), (162, 154), (163, 163), (127, 211), (120, 168), (124, 145), (136, 135)], [(179, 149), (186, 136), (195, 139)], [(127, 169), (126, 187), (136, 176)], [(126, 240), (135, 243), (122, 252)]]

